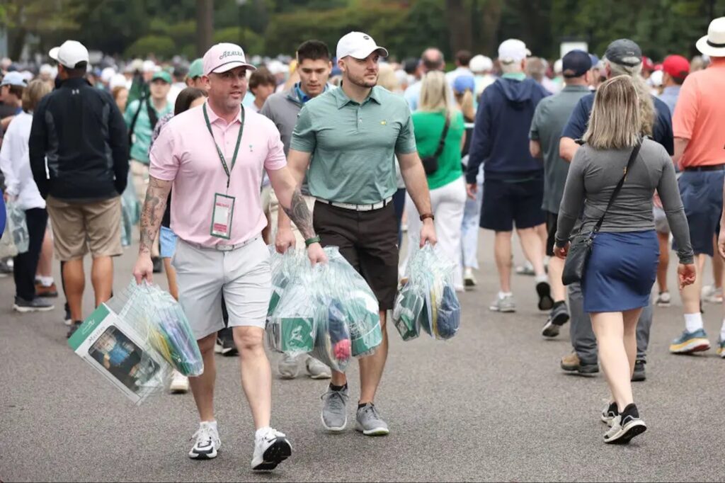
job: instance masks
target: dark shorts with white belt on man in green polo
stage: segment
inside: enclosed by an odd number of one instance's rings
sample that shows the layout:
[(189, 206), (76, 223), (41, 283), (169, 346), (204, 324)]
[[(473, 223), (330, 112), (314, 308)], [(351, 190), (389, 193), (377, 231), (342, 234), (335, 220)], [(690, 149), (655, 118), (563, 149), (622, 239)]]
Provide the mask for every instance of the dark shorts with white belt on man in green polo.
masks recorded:
[(368, 282), (380, 310), (391, 310), (398, 284), (398, 228), (395, 207), (354, 211), (315, 203), (315, 233), (323, 247), (339, 247), (340, 254)]

